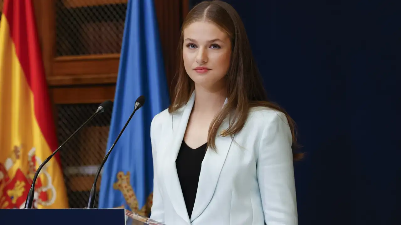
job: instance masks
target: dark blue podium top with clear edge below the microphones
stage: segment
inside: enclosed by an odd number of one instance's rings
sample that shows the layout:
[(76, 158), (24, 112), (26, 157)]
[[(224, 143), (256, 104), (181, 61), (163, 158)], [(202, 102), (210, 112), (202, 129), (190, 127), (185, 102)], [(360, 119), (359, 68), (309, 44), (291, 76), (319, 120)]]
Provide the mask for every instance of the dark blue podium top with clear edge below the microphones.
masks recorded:
[(126, 209), (0, 209), (2, 225), (164, 225)]

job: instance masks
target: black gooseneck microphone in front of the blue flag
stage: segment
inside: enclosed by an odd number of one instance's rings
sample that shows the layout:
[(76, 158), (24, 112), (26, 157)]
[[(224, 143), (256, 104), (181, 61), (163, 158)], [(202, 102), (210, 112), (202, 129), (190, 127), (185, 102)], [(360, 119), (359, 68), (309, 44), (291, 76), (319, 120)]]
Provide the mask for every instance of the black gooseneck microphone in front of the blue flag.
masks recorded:
[(110, 150), (107, 152), (106, 156), (104, 157), (103, 161), (101, 162), (99, 169), (97, 169), (96, 175), (95, 175), (95, 181), (93, 182), (92, 185), (92, 189), (91, 189), (91, 193), (89, 193), (89, 201), (88, 201), (88, 207), (87, 209), (93, 209), (93, 205), (95, 205), (95, 198), (96, 198), (96, 183), (97, 183), (97, 178), (100, 175), (100, 171), (103, 168), (103, 165), (105, 164), (107, 158), (109, 157), (111, 150), (113, 150), (115, 143), (117, 143), (118, 139), (120, 138), (120, 136), (122, 135), (122, 133), (124, 132), (125, 128), (127, 127), (128, 123), (130, 123), (130, 120), (132, 118), (132, 116), (134, 116), (134, 113), (136, 112), (136, 110), (138, 110), (139, 108), (141, 108), (145, 103), (145, 97), (143, 95), (139, 96), (136, 101), (135, 101), (135, 108), (134, 111), (132, 112), (130, 118), (128, 119), (127, 123), (124, 125), (123, 129), (120, 131), (120, 133), (118, 134), (117, 138), (115, 139), (113, 145), (111, 145)]

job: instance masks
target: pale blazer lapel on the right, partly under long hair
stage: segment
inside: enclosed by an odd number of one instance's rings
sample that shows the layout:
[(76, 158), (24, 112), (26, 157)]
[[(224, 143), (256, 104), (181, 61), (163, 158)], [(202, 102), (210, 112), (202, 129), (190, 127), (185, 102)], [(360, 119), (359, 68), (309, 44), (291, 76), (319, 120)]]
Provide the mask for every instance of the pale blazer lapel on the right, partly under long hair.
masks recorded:
[[(225, 104), (227, 103), (227, 99)], [(233, 137), (220, 135), (221, 131), (229, 128), (229, 119), (226, 119), (220, 126), (215, 139), (216, 151), (207, 149), (202, 162), (201, 174), (199, 176), (198, 189), (194, 208), (190, 221), (194, 221), (205, 210), (211, 201), (219, 180), (221, 169), (229, 152)]]

